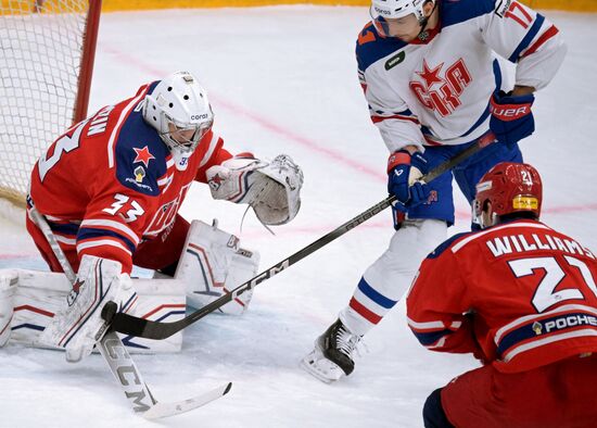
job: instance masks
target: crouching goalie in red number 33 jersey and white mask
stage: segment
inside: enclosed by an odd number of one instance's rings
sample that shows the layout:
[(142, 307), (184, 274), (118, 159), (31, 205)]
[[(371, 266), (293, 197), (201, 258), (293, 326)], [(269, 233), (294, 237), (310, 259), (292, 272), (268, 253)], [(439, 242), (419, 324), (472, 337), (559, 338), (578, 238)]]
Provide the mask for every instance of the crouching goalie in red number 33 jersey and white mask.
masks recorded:
[[(250, 204), (264, 224), (296, 215), (301, 168), (287, 155), (270, 163), (247, 153), (233, 158), (212, 130), (213, 121), (205, 90), (191, 74), (179, 72), (74, 125), (39, 159), (29, 210), (45, 216), (78, 272), (69, 307), (46, 328), (43, 343), (66, 348), (67, 358), (80, 360), (101, 324), (101, 311), (92, 309), (110, 300), (128, 307), (134, 264), (174, 275), (190, 239), (190, 225), (178, 210), (193, 181), (209, 184), (216, 199)], [(51, 269), (62, 272), (30, 213), (27, 230)], [(196, 230), (203, 234), (198, 240), (207, 240), (200, 250), (208, 275), (198, 273), (194, 280), (209, 276), (221, 285), (227, 266), (241, 255), (249, 270), (256, 265), (254, 254), (238, 254), (236, 237), (215, 227)], [(203, 294), (214, 299), (208, 287)], [(87, 319), (88, 314), (94, 318)]]

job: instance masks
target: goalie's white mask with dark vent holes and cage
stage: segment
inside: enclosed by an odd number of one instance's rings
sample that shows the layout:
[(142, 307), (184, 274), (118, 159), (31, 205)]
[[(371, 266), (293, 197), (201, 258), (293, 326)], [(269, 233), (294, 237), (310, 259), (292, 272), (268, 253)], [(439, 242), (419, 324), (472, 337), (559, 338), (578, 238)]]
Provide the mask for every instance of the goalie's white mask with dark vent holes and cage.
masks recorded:
[(209, 131), (214, 113), (205, 89), (188, 72), (174, 73), (145, 96), (143, 118), (168, 147), (179, 169)]

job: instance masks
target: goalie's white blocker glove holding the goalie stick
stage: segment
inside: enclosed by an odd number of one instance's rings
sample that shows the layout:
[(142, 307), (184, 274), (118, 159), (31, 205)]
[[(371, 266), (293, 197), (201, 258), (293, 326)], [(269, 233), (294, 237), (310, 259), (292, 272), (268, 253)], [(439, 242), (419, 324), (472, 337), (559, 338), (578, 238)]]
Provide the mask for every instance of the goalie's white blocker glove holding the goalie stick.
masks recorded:
[(102, 317), (105, 305), (114, 302), (118, 312), (127, 312), (136, 300), (130, 277), (120, 272), (118, 262), (84, 255), (67, 306), (54, 315), (37, 344), (63, 348), (72, 363), (89, 355), (107, 330)]

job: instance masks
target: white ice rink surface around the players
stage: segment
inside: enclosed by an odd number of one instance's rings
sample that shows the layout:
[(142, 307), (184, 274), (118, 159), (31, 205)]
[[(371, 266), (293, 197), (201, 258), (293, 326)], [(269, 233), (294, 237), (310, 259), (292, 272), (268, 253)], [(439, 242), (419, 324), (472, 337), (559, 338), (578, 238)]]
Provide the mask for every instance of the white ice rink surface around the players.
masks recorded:
[[(597, 15), (546, 15), (569, 54), (536, 97), (536, 131), (522, 150), (544, 179), (543, 221), (596, 251)], [(215, 129), (230, 151), (291, 154), (305, 174), (303, 206), (276, 236), (251, 213), (241, 232), (244, 206), (213, 201), (199, 184), (181, 210), (187, 218), (217, 217), (261, 252), (266, 268), (385, 197), (388, 153), (368, 117), (354, 59), (367, 21), (367, 8), (323, 7), (105, 14), (90, 112), (188, 70), (207, 88)], [(469, 225), (468, 205), (456, 193), (450, 234)], [(23, 228), (2, 219), (0, 230), (2, 267), (43, 268)], [(132, 414), (99, 355), (68, 365), (62, 353), (12, 344), (0, 350), (0, 427), (421, 427), (427, 395), (478, 363), (420, 347), (402, 303), (366, 337), (350, 378), (327, 386), (298, 367), (392, 232), (383, 212), (262, 284), (242, 317), (213, 315), (187, 329), (181, 353), (135, 357), (158, 400), (231, 380), (231, 392), (215, 403), (145, 421)]]

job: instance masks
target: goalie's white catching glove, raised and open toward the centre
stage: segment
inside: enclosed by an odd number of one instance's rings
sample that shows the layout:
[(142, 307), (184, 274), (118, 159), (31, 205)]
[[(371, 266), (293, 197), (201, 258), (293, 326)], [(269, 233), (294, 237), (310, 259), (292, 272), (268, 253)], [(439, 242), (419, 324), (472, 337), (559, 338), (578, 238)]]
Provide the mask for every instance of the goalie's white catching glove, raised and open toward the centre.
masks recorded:
[(247, 203), (265, 225), (283, 225), (298, 213), (303, 172), (287, 154), (271, 162), (238, 155), (206, 172), (214, 199)]

